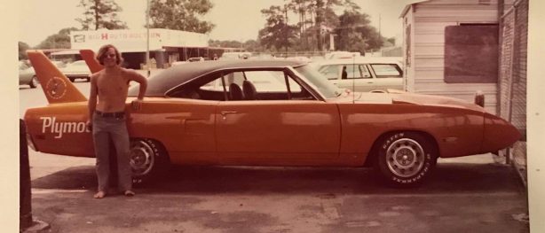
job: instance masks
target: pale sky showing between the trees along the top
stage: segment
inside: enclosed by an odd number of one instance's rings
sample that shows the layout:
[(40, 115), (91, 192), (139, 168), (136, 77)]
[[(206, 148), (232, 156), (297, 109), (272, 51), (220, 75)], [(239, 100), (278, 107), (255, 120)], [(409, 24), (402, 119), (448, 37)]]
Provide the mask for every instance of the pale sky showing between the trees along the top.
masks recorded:
[[(262, 9), (271, 5), (283, 5), (285, 0), (210, 0), (214, 7), (201, 19), (209, 20), (216, 27), (209, 33), (212, 40), (247, 41), (257, 39), (257, 32), (265, 25)], [(115, 0), (122, 7), (119, 19), (127, 22), (130, 29), (142, 29), (146, 24), (146, 0)], [(399, 15), (408, 0), (353, 0), (371, 17), (371, 24), (378, 28), (380, 16), (383, 36), (401, 35)], [(75, 21), (83, 15), (77, 7), (80, 0), (21, 0), (19, 15), (20, 42), (36, 46), (47, 36), (65, 27), (81, 27)]]

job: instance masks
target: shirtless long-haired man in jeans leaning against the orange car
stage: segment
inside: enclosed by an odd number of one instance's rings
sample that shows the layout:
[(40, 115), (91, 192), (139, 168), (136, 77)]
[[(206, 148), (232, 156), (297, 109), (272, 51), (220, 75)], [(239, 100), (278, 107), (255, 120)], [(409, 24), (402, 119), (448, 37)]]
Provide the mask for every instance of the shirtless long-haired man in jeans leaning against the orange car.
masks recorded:
[(104, 198), (107, 194), (110, 138), (115, 144), (117, 154), (118, 189), (125, 196), (131, 197), (134, 192), (130, 171), (129, 133), (125, 123), (125, 101), (129, 82), (140, 83), (138, 98), (131, 103), (134, 110), (139, 110), (146, 93), (147, 80), (134, 70), (122, 68), (121, 54), (111, 44), (100, 48), (97, 60), (104, 69), (91, 74), (90, 120), (87, 121), (87, 127), (92, 128), (99, 180), (99, 189), (93, 198)]

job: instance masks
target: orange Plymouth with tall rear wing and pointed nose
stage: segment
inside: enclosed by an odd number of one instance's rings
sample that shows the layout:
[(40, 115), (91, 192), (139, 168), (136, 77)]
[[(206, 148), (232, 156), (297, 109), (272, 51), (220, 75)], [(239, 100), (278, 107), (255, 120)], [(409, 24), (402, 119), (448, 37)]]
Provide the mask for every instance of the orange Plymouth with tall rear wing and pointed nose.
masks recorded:
[[(94, 157), (87, 98), (40, 51), (28, 52), (49, 105), (28, 109), (36, 151)], [(87, 62), (91, 71), (99, 66)], [(401, 91), (338, 89), (305, 62), (217, 60), (173, 66), (149, 79), (141, 110), (127, 99), (135, 181), (169, 164), (375, 166), (398, 186), (422, 183), (439, 157), (515, 143), (508, 121), (471, 103)]]

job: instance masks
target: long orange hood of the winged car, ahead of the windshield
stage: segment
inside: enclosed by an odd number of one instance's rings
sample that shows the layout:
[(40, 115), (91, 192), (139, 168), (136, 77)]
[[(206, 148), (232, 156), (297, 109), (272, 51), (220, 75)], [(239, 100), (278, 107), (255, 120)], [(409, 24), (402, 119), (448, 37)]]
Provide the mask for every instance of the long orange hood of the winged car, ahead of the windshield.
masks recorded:
[(341, 103), (392, 104), (392, 105), (437, 105), (454, 108), (465, 108), (485, 112), (481, 106), (454, 97), (440, 97), (408, 93), (401, 90), (388, 89), (386, 92), (351, 92), (336, 99)]

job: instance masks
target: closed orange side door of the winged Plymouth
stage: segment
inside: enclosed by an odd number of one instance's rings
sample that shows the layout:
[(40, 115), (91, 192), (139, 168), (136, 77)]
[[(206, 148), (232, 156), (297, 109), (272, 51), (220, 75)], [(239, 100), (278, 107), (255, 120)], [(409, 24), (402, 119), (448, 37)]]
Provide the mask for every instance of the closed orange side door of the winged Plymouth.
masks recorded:
[(220, 159), (237, 164), (312, 165), (338, 157), (341, 132), (336, 104), (298, 98), (296, 89), (303, 93), (304, 88), (295, 88), (296, 82), (287, 79), (289, 89), (295, 89), (289, 95), (286, 82), (283, 90), (279, 90), (278, 82), (271, 82), (274, 87), (269, 89), (262, 83), (257, 87), (259, 99), (217, 105)]

